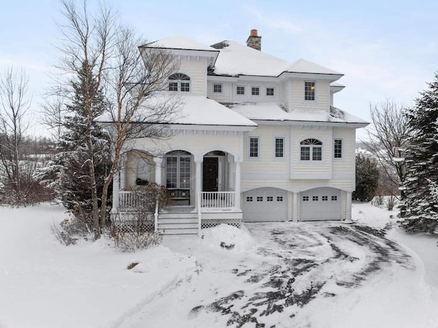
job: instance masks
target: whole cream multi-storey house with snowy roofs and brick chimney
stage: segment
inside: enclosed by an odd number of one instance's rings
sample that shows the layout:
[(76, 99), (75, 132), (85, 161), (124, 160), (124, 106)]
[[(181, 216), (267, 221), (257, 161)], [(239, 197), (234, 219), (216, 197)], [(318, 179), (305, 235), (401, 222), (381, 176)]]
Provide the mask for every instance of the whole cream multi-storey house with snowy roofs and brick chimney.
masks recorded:
[(368, 123), (333, 105), (342, 73), (263, 53), (255, 29), (247, 45), (174, 36), (140, 47), (149, 49), (179, 60), (168, 92), (181, 96), (181, 116), (166, 140), (126, 142), (113, 214), (135, 213), (131, 188), (154, 181), (172, 199), (155, 215), (167, 234), (242, 221), (350, 220), (355, 131)]

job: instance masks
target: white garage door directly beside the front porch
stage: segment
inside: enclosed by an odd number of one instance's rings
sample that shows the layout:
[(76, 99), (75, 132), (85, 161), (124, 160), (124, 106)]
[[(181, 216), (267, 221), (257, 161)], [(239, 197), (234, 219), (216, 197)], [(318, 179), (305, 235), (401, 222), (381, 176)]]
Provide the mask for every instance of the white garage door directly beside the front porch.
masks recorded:
[(244, 222), (287, 220), (287, 192), (277, 188), (257, 188), (244, 192)]

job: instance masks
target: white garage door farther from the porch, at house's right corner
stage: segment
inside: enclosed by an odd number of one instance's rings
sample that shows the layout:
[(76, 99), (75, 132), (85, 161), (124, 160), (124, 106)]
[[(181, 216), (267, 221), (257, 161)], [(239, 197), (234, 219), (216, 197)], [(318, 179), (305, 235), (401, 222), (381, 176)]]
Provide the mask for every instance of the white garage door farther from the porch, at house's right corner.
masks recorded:
[(300, 220), (341, 220), (341, 196), (341, 190), (326, 187), (300, 192)]

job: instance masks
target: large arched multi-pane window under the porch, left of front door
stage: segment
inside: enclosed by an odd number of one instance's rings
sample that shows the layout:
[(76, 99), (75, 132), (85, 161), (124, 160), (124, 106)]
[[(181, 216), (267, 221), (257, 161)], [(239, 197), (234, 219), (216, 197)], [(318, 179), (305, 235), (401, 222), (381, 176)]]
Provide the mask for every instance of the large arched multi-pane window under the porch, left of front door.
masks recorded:
[(187, 151), (166, 155), (166, 188), (190, 189), (191, 157)]

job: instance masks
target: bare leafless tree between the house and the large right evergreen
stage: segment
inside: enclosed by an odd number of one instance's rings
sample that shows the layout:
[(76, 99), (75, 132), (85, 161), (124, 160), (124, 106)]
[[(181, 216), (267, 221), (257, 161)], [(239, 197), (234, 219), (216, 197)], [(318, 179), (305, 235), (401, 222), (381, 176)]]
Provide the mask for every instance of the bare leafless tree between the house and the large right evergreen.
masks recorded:
[[(406, 179), (406, 147), (411, 136), (404, 106), (386, 99), (370, 105), (372, 126), (367, 129), (368, 140), (362, 140), (377, 158), (384, 172), (385, 189), (398, 200), (404, 200), (399, 188)], [(400, 194), (398, 194), (400, 190)], [(403, 214), (403, 211), (400, 211)]]

